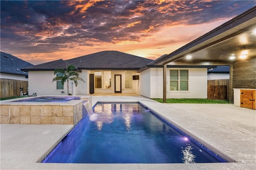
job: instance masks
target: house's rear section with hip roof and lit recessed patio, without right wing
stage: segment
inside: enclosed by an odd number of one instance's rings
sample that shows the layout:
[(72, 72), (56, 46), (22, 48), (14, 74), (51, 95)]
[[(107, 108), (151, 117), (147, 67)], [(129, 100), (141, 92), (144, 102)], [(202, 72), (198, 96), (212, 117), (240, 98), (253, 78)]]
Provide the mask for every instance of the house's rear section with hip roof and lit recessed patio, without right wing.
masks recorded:
[(74, 65), (79, 77), (86, 82), (79, 82), (77, 87), (70, 82), (69, 93), (73, 95), (138, 94), (139, 80), (133, 80), (133, 76), (138, 75), (138, 69), (152, 61), (119, 51), (101, 51), (73, 59), (59, 59), (34, 65), (22, 70), (28, 71), (29, 95), (67, 95), (66, 85), (63, 86), (59, 81), (52, 82), (52, 79), (56, 76), (53, 73), (54, 69), (66, 69), (68, 65)]

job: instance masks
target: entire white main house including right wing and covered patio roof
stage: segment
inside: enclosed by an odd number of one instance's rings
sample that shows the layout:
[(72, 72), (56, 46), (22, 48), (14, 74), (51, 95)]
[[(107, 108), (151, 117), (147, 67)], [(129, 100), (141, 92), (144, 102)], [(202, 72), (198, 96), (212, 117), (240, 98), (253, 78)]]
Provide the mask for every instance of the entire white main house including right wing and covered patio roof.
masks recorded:
[(52, 83), (53, 71), (72, 64), (86, 81), (78, 87), (70, 83), (73, 95), (132, 93), (166, 102), (166, 98), (207, 98), (208, 69), (229, 66), (232, 103), (233, 88), (256, 89), (255, 12), (256, 6), (154, 61), (118, 51), (101, 51), (22, 70), (28, 71), (30, 93), (66, 92), (60, 82)]

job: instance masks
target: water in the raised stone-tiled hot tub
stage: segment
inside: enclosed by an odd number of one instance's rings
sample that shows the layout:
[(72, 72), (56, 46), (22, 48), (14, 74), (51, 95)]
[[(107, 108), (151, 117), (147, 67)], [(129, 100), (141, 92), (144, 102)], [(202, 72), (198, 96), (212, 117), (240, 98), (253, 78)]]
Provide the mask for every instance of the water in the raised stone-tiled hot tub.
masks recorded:
[(32, 99), (24, 99), (14, 102), (68, 102), (71, 100), (80, 100), (80, 97), (37, 97)]

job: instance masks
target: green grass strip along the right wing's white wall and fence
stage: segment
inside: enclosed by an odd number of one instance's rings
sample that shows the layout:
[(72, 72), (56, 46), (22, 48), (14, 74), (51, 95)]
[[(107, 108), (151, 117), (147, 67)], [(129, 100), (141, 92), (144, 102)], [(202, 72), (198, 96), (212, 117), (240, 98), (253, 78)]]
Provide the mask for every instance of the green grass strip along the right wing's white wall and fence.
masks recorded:
[[(163, 99), (152, 99), (163, 103)], [(210, 104), (228, 104), (228, 100), (213, 100), (213, 99), (166, 99), (166, 103), (210, 103)]]

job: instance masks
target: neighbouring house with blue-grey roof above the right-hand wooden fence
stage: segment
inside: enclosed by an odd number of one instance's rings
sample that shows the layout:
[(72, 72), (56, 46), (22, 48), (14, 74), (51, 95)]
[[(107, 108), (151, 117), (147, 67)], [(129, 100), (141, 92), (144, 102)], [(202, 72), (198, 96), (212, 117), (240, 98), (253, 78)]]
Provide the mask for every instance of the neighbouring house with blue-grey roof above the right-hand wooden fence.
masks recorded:
[(208, 80), (229, 79), (229, 66), (219, 65), (216, 68), (208, 68)]

